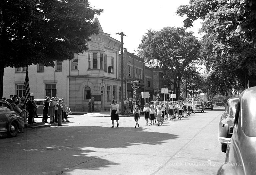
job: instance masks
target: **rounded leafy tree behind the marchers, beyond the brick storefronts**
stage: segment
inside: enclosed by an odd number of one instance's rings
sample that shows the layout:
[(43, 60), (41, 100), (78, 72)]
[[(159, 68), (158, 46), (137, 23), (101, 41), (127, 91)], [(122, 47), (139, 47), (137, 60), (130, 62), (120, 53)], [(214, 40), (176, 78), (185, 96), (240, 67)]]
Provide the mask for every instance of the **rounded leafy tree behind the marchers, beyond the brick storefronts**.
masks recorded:
[(164, 78), (172, 81), (178, 99), (181, 80), (197, 74), (198, 40), (184, 28), (164, 27), (161, 31), (148, 30), (141, 41), (139, 56), (164, 70)]

